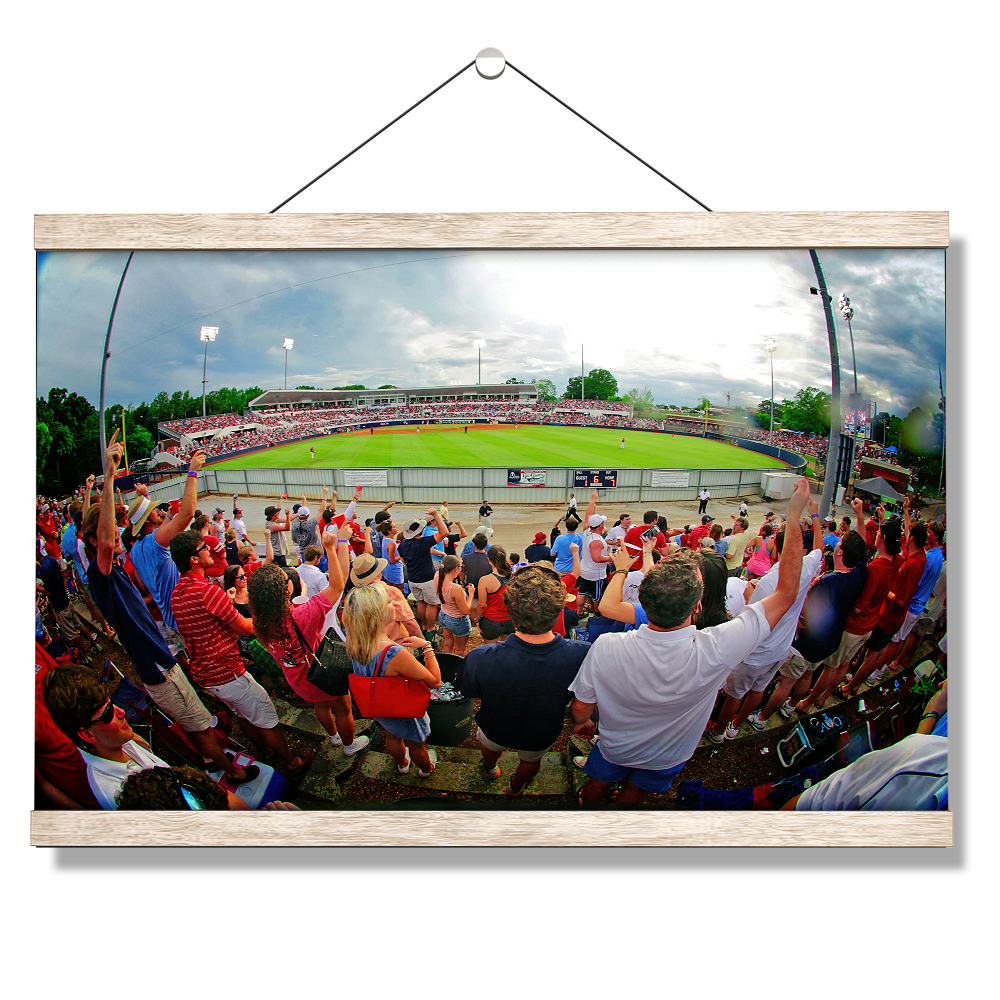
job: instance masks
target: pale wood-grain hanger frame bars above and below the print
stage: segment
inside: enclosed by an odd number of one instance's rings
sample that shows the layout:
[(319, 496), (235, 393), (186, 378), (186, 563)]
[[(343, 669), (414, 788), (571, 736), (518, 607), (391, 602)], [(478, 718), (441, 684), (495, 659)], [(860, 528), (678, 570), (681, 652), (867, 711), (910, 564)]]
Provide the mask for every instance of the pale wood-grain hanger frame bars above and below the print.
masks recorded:
[[(939, 248), (947, 212), (39, 215), (48, 250)], [(951, 812), (33, 811), (54, 846), (951, 847)]]

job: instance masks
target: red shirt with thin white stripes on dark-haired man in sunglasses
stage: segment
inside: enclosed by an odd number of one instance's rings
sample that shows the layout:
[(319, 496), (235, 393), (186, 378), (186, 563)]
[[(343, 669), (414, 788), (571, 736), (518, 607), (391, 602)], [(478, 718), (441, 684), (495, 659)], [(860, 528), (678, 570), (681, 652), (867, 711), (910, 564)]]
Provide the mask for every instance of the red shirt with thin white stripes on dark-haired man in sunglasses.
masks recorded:
[(202, 687), (228, 684), (245, 673), (236, 633), (229, 627), (240, 613), (220, 587), (203, 576), (183, 573), (170, 608), (187, 647), (191, 675)]

